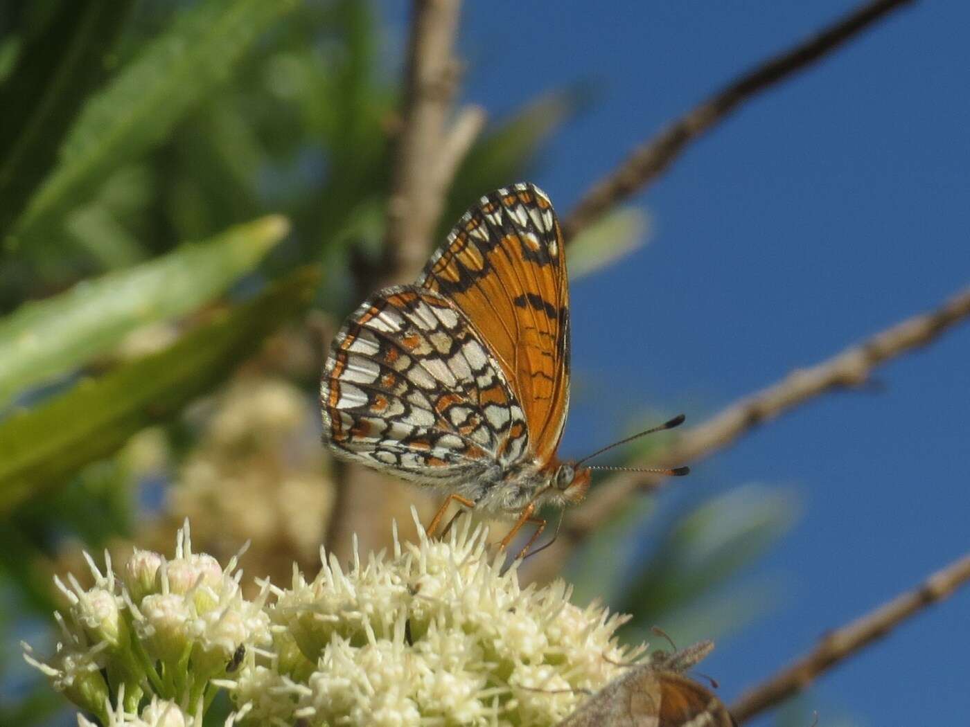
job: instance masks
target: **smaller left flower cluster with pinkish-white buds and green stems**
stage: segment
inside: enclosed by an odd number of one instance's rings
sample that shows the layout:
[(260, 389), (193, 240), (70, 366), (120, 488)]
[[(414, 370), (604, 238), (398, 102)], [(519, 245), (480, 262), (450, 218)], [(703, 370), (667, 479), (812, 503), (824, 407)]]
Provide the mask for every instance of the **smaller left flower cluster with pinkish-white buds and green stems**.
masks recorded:
[(104, 574), (84, 557), (91, 588), (73, 575), (66, 585), (54, 579), (70, 604), (54, 615), (62, 636), (54, 657), (42, 662), (28, 645), (24, 657), (102, 724), (201, 725), (201, 705), (216, 691), (210, 680), (238, 668), (238, 654), (272, 644), (268, 590), (245, 600), (238, 556), (223, 570), (192, 553), (187, 522), (175, 558), (136, 549), (116, 576), (108, 553)]

